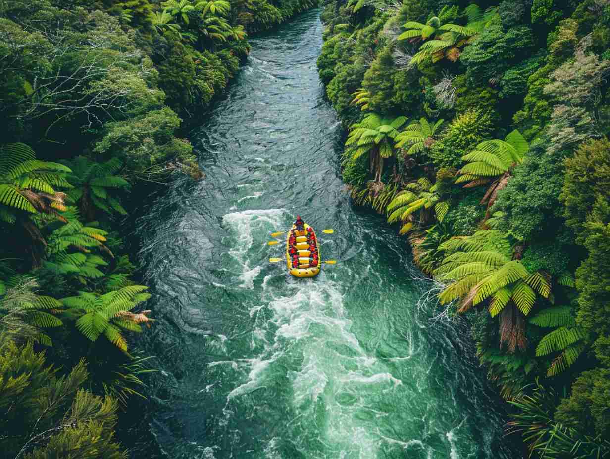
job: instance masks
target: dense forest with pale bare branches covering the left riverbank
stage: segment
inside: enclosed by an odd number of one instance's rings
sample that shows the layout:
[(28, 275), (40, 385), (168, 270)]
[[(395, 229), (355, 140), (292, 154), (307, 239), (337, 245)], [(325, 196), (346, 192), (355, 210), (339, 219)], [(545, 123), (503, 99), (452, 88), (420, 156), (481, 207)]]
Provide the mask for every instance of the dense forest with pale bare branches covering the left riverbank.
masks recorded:
[(249, 33), (314, 4), (0, 2), (2, 457), (127, 457), (115, 426), (152, 371), (130, 337), (154, 321), (121, 227), (129, 193), (203, 176), (185, 124)]

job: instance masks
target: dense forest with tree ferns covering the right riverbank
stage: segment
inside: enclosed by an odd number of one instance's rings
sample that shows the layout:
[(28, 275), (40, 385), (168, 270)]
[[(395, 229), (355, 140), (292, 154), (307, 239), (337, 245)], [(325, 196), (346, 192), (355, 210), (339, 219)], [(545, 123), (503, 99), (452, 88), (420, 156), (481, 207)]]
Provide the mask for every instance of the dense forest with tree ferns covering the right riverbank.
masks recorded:
[(533, 457), (610, 455), (610, 2), (342, 0), (318, 59), (357, 204), (399, 223)]

